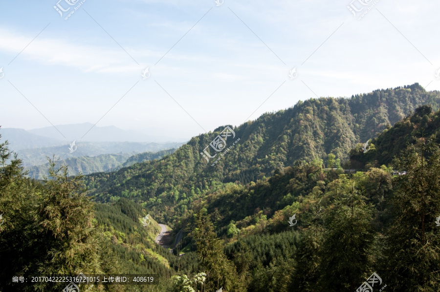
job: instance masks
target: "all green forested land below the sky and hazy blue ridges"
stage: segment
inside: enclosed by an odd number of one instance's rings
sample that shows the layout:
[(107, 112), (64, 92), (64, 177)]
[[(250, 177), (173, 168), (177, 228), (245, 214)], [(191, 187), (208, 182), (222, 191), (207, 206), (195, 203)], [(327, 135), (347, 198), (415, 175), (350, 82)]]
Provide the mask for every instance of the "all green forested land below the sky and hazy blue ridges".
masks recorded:
[[(368, 285), (438, 292), (440, 146), (428, 136), (437, 135), (440, 112), (418, 107), (424, 103), (438, 110), (439, 93), (418, 84), (312, 99), (233, 128), (217, 164), (199, 153), (225, 126), (160, 160), (90, 174), (87, 185), (53, 163), (44, 183), (25, 178), (0, 143), (0, 291), (13, 291), (13, 275), (82, 271), (160, 277), (160, 285), (90, 292), (354, 292)], [(410, 116), (392, 126), (401, 115)], [(383, 129), (364, 153), (358, 143)], [(392, 163), (379, 165), (388, 159), (379, 147)], [(349, 153), (363, 171), (344, 173)], [(154, 219), (147, 227), (146, 214)], [(153, 243), (156, 222), (183, 229), (174, 254)]]

